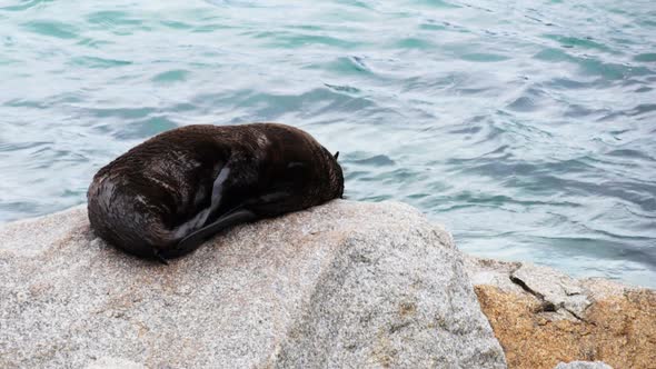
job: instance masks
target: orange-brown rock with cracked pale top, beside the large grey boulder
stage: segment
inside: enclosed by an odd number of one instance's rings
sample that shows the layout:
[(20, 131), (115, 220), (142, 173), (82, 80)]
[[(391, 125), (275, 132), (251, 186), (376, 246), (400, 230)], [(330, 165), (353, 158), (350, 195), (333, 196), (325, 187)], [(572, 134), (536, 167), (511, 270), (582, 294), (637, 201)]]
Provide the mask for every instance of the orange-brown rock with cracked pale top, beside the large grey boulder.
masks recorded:
[[(656, 368), (655, 291), (530, 263), (466, 257), (466, 268), (509, 368)], [(586, 365), (558, 368), (607, 368)]]

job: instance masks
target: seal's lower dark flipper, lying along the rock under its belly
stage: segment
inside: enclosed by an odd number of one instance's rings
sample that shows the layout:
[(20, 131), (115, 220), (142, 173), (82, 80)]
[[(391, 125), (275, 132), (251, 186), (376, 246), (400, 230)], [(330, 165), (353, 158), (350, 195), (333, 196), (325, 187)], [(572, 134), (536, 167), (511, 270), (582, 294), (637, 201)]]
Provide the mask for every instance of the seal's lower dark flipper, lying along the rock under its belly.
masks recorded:
[(239, 223), (255, 220), (257, 217), (252, 211), (246, 209), (237, 209), (225, 216), (221, 216), (216, 221), (187, 235), (178, 245), (169, 250), (162, 250), (160, 255), (165, 258), (177, 258), (185, 253), (196, 250), (202, 242), (210, 236), (218, 233), (219, 231), (237, 226)]

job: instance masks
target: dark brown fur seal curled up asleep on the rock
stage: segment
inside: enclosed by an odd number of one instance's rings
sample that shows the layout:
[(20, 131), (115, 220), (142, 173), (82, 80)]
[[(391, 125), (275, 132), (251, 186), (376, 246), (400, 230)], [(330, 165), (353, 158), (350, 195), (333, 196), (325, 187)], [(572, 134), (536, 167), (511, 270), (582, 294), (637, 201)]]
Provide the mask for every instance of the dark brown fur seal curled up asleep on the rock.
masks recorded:
[(228, 227), (340, 198), (337, 154), (278, 123), (173, 129), (96, 173), (89, 221), (111, 245), (166, 262)]

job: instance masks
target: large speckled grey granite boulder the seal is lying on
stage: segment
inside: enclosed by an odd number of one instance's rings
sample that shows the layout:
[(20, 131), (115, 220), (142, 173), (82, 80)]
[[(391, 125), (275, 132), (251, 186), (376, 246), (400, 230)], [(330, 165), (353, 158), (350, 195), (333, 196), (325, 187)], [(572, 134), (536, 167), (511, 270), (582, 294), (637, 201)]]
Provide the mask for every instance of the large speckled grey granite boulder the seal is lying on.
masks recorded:
[(237, 227), (169, 266), (83, 208), (0, 227), (1, 368), (503, 368), (448, 232), (394, 202)]

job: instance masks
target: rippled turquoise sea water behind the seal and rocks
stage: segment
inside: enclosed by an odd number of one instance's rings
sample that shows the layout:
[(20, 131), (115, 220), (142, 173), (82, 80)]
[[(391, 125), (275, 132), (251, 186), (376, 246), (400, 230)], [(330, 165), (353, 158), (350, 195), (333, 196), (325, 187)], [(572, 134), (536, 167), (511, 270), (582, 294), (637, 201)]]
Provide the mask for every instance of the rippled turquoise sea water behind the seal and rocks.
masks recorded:
[(0, 221), (158, 132), (274, 120), (466, 251), (656, 287), (656, 2), (0, 0)]

